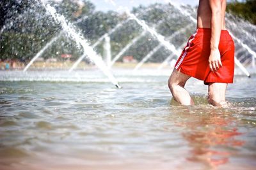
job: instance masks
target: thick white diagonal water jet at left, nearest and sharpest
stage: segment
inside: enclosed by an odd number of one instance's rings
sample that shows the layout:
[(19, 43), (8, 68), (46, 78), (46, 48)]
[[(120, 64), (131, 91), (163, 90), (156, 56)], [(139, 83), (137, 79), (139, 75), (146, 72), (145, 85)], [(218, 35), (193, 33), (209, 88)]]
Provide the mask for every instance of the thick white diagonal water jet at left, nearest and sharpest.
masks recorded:
[(92, 60), (96, 66), (101, 69), (101, 71), (108, 76), (109, 80), (118, 88), (121, 88), (120, 85), (118, 85), (118, 81), (116, 81), (115, 77), (110, 73), (108, 67), (104, 64), (102, 57), (97, 55), (97, 53), (93, 50), (91, 46), (88, 45), (88, 42), (86, 39), (83, 38), (80, 34), (77, 34), (75, 29), (72, 27), (72, 25), (67, 24), (65, 17), (63, 15), (60, 15), (56, 13), (56, 10), (49, 4), (45, 4), (44, 1), (41, 1), (42, 4), (45, 7), (45, 10), (47, 13), (49, 13), (52, 18), (56, 22), (59, 22), (61, 24), (61, 27), (63, 28), (63, 31), (66, 32), (67, 36), (70, 38), (74, 39), (76, 41), (77, 45), (81, 45), (83, 47), (84, 52), (87, 54), (86, 56), (88, 57), (89, 60)]

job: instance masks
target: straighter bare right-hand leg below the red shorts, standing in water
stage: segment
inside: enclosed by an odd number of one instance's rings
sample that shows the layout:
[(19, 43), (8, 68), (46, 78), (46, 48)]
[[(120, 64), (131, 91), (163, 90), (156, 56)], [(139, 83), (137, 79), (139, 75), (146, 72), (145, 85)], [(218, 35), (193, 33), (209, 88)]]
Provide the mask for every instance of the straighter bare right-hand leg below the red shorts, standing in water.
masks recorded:
[(208, 101), (213, 106), (226, 107), (227, 83), (210, 83), (208, 88)]

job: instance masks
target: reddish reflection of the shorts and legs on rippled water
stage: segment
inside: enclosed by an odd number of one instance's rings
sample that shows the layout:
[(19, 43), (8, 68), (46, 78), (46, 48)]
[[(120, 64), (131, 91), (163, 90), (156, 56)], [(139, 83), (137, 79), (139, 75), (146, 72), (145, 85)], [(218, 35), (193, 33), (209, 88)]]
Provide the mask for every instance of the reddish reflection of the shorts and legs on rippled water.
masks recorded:
[(187, 157), (190, 161), (202, 162), (208, 168), (217, 167), (236, 154), (227, 148), (244, 145), (245, 141), (236, 138), (242, 133), (238, 132), (237, 120), (228, 110), (196, 106), (190, 111), (179, 109), (177, 114), (180, 118), (177, 125), (186, 127), (182, 136), (191, 148)]

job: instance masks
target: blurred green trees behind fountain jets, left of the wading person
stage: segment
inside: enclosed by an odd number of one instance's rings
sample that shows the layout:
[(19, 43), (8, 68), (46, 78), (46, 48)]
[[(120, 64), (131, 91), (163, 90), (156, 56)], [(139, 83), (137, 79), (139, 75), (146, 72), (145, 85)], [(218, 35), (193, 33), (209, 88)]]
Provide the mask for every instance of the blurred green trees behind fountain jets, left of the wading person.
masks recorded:
[[(58, 13), (64, 15), (68, 22), (75, 25), (75, 28), (81, 31), (80, 33), (83, 34), (84, 38), (88, 39), (91, 45), (98, 41), (101, 36), (111, 31), (120, 22), (127, 20), (125, 13), (95, 11), (95, 6), (90, 1), (83, 0), (83, 5), (76, 2), (62, 0), (57, 2), (51, 1), (50, 3), (56, 8)], [(166, 4), (152, 4), (147, 7), (139, 6), (138, 8), (134, 8), (132, 13), (137, 15), (141, 20), (144, 20), (150, 27), (156, 29), (159, 34), (162, 34), (166, 38), (172, 35), (173, 32), (184, 27), (184, 25), (191, 24), (188, 17), (182, 16), (173, 6)], [(54, 22), (51, 16), (46, 15), (40, 3), (34, 3), (20, 12), (22, 18), (13, 18), (13, 16), (16, 15), (13, 14), (12, 18), (9, 19), (9, 21), (11, 20), (13, 22), (12, 27), (6, 29), (0, 36), (0, 59), (29, 61), (52, 38), (58, 36), (61, 32), (61, 26)], [(132, 39), (140, 36), (141, 32), (143, 32), (141, 26), (134, 20), (129, 20), (129, 22), (125, 22), (121, 27), (116, 29), (113, 34), (109, 34), (113, 57), (127, 46), (127, 44), (131, 43)], [(170, 42), (175, 44), (176, 47), (179, 47), (186, 41), (189, 34), (191, 32), (186, 31), (181, 36), (170, 39)], [(103, 53), (102, 45), (103, 42), (94, 48), (100, 54)], [(135, 59), (141, 60), (157, 45), (159, 45), (159, 42), (156, 38), (152, 38), (152, 35), (147, 33), (122, 56), (132, 55)], [(42, 54), (42, 57), (44, 59), (51, 57), (61, 59), (60, 56), (62, 53), (72, 54), (72, 60), (76, 60), (83, 53), (83, 50), (79, 49), (72, 39), (67, 38), (63, 34)], [(170, 51), (162, 46), (152, 56), (150, 61), (159, 62), (168, 57), (168, 55), (170, 55)], [(120, 60), (122, 60), (122, 57)]]

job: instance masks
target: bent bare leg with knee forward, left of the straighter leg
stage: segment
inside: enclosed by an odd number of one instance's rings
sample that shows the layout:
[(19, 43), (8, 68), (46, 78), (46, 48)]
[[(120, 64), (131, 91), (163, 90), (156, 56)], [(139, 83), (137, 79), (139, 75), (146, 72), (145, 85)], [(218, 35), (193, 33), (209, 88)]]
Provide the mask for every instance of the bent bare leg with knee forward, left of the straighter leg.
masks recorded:
[(172, 75), (168, 80), (168, 86), (172, 92), (173, 99), (183, 105), (193, 105), (194, 101), (190, 97), (188, 91), (184, 88), (186, 81), (190, 76), (180, 73), (177, 69), (173, 69)]

